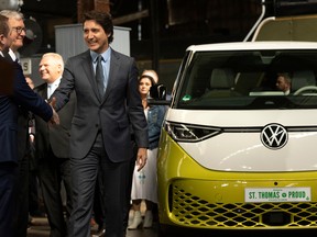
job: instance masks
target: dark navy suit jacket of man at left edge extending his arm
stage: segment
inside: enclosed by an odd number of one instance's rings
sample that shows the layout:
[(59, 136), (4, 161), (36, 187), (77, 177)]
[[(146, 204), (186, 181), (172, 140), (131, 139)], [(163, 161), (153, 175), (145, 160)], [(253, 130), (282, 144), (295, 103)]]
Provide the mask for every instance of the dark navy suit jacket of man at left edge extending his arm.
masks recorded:
[[(18, 163), (18, 111), (24, 108), (50, 121), (53, 115), (51, 106), (37, 95), (26, 83), (21, 66), (18, 63), (7, 63), (0, 56), (0, 63), (12, 66), (13, 91), (0, 92), (0, 162)], [(10, 67), (11, 67), (10, 66)], [(0, 76), (0, 80), (7, 80)], [(8, 81), (10, 84), (10, 81)]]

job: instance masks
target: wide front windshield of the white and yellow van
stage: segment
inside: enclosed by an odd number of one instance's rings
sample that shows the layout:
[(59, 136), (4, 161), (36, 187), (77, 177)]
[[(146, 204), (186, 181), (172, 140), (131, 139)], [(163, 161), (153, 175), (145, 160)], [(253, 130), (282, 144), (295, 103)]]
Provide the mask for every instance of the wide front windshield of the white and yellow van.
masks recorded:
[(175, 106), (196, 110), (317, 109), (317, 50), (198, 52)]

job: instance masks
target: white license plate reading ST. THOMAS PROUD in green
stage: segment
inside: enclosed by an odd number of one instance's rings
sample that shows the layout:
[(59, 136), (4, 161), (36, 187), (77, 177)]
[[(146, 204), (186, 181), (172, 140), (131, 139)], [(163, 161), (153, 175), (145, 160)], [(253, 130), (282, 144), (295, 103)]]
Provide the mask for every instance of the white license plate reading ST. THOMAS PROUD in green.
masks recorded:
[(244, 202), (309, 202), (310, 188), (244, 189)]

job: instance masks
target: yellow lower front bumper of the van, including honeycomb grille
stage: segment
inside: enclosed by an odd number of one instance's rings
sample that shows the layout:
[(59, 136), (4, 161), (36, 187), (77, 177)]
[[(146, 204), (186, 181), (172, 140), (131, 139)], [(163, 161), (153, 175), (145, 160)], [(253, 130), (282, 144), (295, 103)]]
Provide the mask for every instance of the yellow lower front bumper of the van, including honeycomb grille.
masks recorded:
[[(316, 171), (248, 173), (206, 169), (165, 132), (160, 147), (161, 224), (210, 229), (317, 228)], [(245, 189), (287, 188), (308, 188), (309, 201), (250, 202), (245, 198)]]

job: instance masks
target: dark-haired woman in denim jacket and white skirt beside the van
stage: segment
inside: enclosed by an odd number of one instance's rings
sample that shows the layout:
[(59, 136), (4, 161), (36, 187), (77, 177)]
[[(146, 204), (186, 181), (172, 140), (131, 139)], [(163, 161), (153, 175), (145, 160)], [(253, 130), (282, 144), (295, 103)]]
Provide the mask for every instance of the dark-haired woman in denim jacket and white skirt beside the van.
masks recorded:
[(139, 92), (142, 99), (142, 105), (149, 126), (149, 149), (146, 166), (138, 171), (134, 169), (132, 181), (132, 210), (134, 211), (133, 221), (128, 229), (136, 229), (142, 224), (141, 203), (144, 200), (146, 205), (143, 227), (151, 228), (153, 223), (152, 208), (157, 203), (157, 181), (156, 181), (156, 157), (161, 126), (165, 115), (164, 105), (150, 105), (147, 97), (150, 88), (158, 81), (157, 74), (154, 70), (145, 70), (139, 79)]

